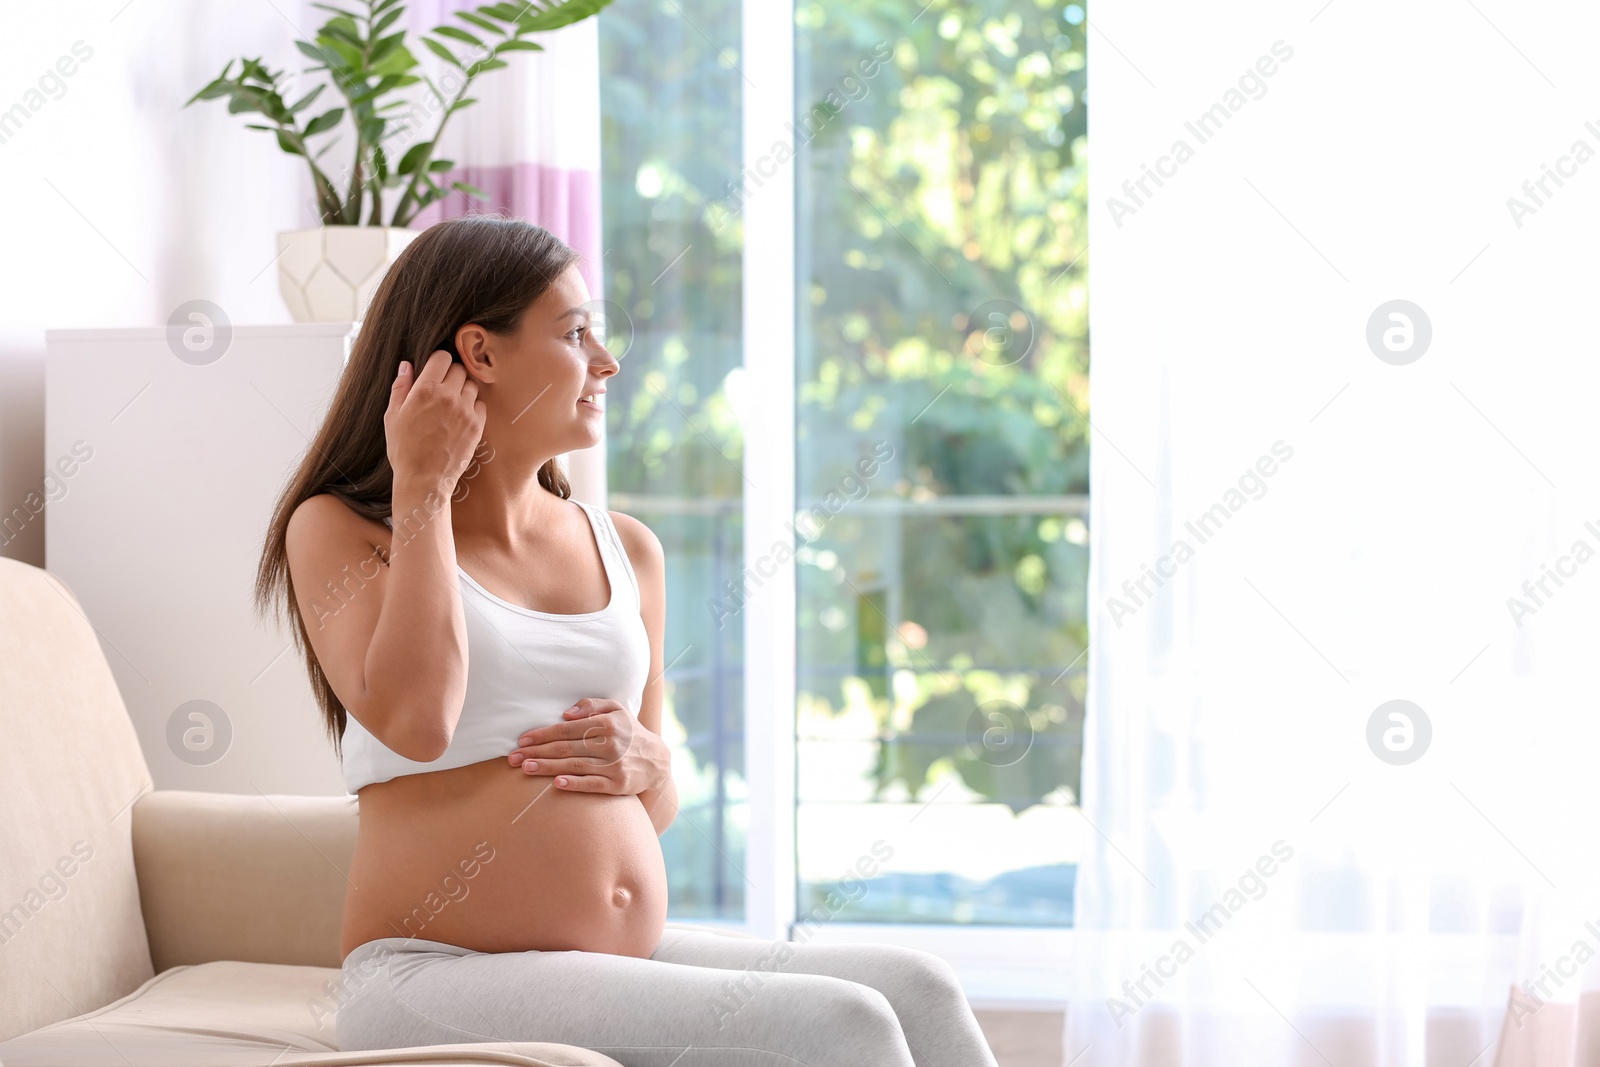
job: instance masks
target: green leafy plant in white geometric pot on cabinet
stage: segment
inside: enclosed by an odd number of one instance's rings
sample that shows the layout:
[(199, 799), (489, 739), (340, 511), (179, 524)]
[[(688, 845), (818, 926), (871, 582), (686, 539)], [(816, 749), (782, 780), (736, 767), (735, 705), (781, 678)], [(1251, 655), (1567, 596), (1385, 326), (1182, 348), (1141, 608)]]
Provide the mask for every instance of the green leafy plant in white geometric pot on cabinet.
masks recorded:
[[(477, 102), (469, 96), (474, 82), (506, 67), (506, 53), (544, 50), (526, 40), (530, 34), (581, 22), (610, 2), (523, 0), (458, 11), (454, 18), (466, 26), (438, 26), (421, 35), (445, 61), (437, 85), (419, 70), (406, 30), (389, 32), (405, 14), (402, 0), (314, 3), (331, 18), (315, 40), (296, 40), (294, 46), (314, 61), (302, 74), (322, 70), (326, 82), (288, 102), (285, 93), (294, 90), (283, 70), (246, 58), (237, 61), (235, 74), (229, 59), (222, 74), (184, 104), (226, 98), (229, 112), (262, 115), (266, 122), (246, 125), (275, 134), (282, 150), (310, 168), (322, 226), (278, 234), (278, 291), (294, 322), (358, 320), (384, 270), (416, 237), (408, 226), (418, 211), (450, 189), (486, 198), (467, 182), (453, 181), (446, 189), (438, 181), (454, 166), (434, 155), (450, 117)], [(312, 115), (330, 83), (339, 101)], [(413, 85), (424, 85), (427, 94), (406, 93)], [(354, 130), (354, 149), (346, 170), (330, 174), (318, 160), (339, 144), (334, 131), (341, 128)], [(312, 146), (326, 134), (334, 136)]]

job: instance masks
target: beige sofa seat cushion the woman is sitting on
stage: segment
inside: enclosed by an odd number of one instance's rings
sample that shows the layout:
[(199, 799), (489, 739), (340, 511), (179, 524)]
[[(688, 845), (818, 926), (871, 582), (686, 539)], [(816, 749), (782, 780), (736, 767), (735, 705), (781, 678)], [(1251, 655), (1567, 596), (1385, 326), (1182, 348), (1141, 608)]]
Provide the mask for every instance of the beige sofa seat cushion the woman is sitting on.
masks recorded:
[(512, 1064), (621, 1067), (544, 1041), (338, 1051), (338, 968), (218, 961), (163, 971), (122, 1000), (0, 1043), (5, 1067)]

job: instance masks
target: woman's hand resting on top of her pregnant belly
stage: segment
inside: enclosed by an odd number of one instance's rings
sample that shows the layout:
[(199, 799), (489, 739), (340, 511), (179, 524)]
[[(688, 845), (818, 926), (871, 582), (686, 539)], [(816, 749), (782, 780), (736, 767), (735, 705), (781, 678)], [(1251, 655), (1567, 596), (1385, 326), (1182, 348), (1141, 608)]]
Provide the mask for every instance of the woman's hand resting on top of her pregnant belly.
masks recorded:
[(526, 774), (554, 774), (573, 792), (632, 797), (672, 774), (672, 752), (616, 701), (586, 696), (563, 721), (530, 729), (507, 755)]

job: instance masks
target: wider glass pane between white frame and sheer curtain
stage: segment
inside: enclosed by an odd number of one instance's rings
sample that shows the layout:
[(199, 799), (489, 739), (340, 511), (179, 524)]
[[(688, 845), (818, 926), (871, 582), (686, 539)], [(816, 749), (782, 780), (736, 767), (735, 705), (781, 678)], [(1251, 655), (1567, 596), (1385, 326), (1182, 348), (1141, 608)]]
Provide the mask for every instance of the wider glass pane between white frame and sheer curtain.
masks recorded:
[(802, 912), (883, 841), (842, 918), (1069, 925), (1083, 10), (795, 14), (798, 494), (846, 498), (800, 553)]

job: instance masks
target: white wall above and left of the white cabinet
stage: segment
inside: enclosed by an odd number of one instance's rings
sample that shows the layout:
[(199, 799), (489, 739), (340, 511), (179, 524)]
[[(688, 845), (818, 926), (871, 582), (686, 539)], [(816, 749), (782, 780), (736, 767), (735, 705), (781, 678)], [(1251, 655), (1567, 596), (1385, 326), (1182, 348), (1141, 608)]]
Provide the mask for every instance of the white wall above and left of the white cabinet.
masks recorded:
[[(235, 323), (288, 322), (269, 264), (277, 230), (315, 221), (301, 166), (226, 104), (182, 107), (235, 56), (298, 69), (278, 11), (310, 24), (299, 0), (6, 11), (0, 114), (21, 104), (27, 118), (0, 141), (3, 512), (43, 490), (46, 328), (155, 326), (197, 298)], [(43, 522), (0, 536), (0, 555), (43, 566)]]

